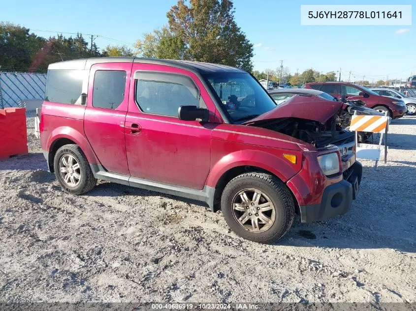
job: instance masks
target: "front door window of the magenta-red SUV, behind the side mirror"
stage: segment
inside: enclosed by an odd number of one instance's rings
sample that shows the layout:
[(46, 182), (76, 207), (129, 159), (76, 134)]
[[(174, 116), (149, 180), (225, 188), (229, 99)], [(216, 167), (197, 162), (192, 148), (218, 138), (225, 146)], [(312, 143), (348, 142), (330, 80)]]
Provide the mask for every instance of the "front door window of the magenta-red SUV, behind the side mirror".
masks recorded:
[(144, 113), (178, 116), (180, 106), (200, 107), (199, 89), (183, 75), (136, 72), (136, 102)]

